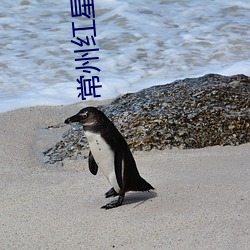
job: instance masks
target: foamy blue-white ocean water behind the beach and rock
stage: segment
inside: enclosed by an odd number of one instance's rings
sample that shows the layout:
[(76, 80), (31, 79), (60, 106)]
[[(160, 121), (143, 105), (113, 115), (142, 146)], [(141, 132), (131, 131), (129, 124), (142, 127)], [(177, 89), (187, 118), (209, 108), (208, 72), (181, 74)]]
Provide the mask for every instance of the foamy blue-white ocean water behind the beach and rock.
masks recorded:
[[(99, 57), (87, 76), (99, 77), (101, 97), (207, 73), (250, 76), (250, 0), (95, 0)], [(81, 101), (83, 75), (70, 0), (2, 0), (0, 5), (0, 112)], [(92, 30), (77, 36), (93, 35)], [(76, 40), (76, 38), (74, 38)], [(77, 41), (77, 40), (76, 40)], [(92, 46), (93, 47), (93, 46)]]

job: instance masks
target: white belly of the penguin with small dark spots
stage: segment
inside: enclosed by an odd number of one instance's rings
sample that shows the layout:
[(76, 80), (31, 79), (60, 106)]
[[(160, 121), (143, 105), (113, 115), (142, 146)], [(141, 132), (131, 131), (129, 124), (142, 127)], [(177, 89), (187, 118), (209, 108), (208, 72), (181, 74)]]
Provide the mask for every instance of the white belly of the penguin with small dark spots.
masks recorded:
[(119, 193), (120, 187), (115, 175), (115, 155), (113, 150), (100, 134), (86, 131), (85, 135), (96, 164), (108, 179), (111, 186)]

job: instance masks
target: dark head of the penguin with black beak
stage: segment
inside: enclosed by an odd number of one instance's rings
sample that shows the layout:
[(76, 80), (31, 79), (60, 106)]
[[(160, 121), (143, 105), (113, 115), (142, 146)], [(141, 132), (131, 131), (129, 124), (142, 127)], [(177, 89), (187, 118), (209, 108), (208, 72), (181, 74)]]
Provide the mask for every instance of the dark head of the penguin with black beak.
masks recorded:
[(86, 128), (101, 125), (106, 119), (108, 118), (97, 108), (87, 107), (80, 110), (76, 115), (69, 117), (64, 122), (67, 124), (79, 122)]

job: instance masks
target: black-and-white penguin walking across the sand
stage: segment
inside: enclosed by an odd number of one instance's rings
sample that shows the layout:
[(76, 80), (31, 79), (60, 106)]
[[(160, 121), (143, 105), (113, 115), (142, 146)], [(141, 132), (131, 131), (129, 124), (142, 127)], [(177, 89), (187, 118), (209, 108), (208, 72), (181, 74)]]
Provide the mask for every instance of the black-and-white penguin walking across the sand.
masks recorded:
[(90, 172), (96, 175), (100, 168), (112, 187), (105, 193), (105, 197), (118, 196), (117, 200), (101, 208), (121, 206), (128, 191), (154, 189), (140, 176), (126, 140), (102, 111), (95, 107), (86, 107), (65, 120), (67, 124), (73, 122), (79, 122), (83, 126), (87, 137)]

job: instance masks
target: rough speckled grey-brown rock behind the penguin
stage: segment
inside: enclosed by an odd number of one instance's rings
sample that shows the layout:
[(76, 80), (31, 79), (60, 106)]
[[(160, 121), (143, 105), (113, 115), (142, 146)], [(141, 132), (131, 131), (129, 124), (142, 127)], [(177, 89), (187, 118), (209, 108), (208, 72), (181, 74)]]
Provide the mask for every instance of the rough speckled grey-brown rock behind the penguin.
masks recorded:
[[(178, 80), (125, 94), (98, 108), (114, 122), (132, 150), (250, 141), (250, 78), (245, 75), (209, 74)], [(76, 125), (44, 155), (53, 163), (83, 157), (87, 147), (82, 128)]]

